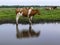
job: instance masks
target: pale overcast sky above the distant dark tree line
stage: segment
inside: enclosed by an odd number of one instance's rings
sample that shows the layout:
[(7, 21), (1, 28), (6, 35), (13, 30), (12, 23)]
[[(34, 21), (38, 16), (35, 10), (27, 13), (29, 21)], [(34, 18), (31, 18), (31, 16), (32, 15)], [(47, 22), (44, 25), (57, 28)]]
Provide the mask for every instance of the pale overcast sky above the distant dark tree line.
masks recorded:
[(60, 0), (0, 0), (0, 5), (60, 6)]

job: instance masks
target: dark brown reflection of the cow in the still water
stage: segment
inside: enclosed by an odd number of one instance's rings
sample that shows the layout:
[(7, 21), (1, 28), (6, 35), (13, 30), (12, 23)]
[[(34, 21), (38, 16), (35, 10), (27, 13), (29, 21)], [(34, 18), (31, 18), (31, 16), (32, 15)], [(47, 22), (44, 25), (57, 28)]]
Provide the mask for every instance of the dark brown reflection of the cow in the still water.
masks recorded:
[(22, 31), (19, 31), (18, 25), (16, 25), (16, 36), (17, 38), (26, 38), (26, 37), (38, 37), (40, 34), (39, 32), (35, 32), (32, 28), (31, 25), (29, 25), (29, 29), (23, 29)]

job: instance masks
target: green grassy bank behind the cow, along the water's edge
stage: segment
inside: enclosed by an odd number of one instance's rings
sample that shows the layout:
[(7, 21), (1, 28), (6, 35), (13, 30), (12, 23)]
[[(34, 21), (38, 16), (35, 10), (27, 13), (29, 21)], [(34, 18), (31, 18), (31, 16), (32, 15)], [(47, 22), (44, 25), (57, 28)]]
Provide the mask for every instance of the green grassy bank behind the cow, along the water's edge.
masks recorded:
[[(60, 9), (40, 9), (40, 13), (41, 15), (33, 17), (33, 23), (60, 21)], [(15, 8), (0, 8), (0, 23), (15, 23), (15, 17)], [(28, 18), (20, 17), (19, 23), (29, 23)]]

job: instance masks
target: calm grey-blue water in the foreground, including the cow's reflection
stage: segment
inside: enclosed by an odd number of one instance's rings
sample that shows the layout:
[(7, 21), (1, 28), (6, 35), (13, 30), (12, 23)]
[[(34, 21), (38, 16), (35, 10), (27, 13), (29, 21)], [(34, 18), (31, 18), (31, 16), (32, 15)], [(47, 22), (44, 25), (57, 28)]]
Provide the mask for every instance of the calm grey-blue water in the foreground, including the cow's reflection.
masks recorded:
[(60, 45), (60, 23), (1, 24), (0, 45)]

